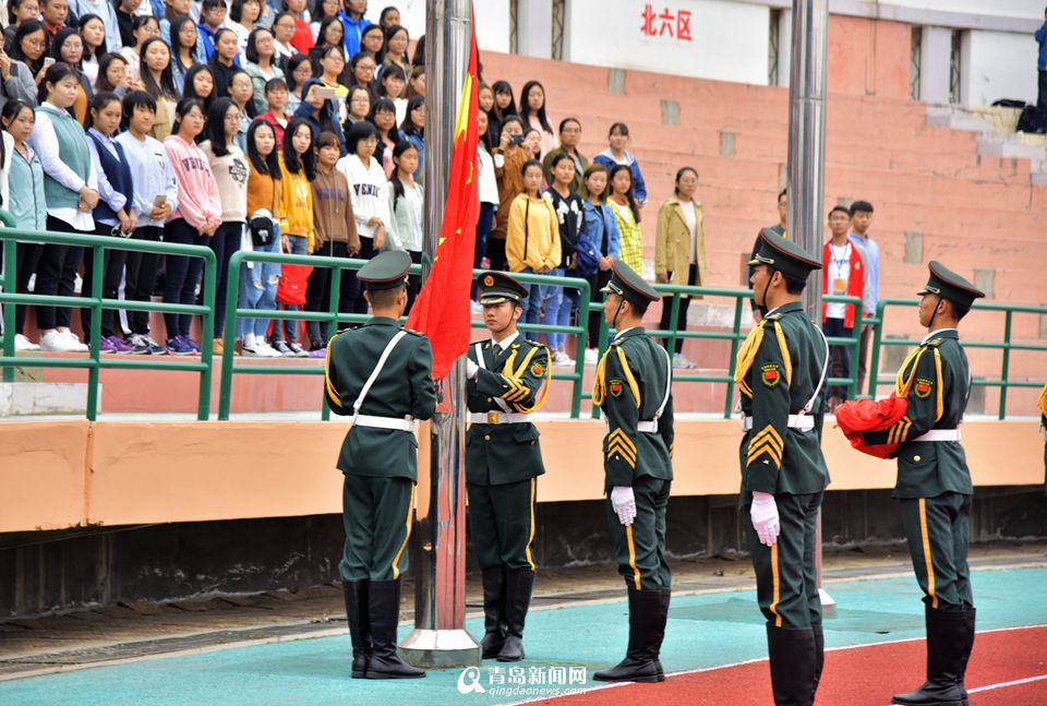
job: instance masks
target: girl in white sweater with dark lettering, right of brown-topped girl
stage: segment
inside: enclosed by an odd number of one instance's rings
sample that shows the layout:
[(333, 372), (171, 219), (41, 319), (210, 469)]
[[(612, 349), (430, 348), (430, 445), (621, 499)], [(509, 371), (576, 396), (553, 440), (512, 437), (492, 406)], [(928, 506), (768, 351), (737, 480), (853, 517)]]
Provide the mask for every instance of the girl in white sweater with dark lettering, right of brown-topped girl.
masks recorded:
[[(377, 130), (370, 122), (358, 122), (346, 135), (349, 154), (338, 160), (338, 169), (346, 175), (352, 190), (352, 214), (360, 235), (360, 254), (370, 260), (385, 248), (389, 224), (389, 180), (374, 158), (378, 146)], [(366, 313), (368, 304), (360, 296), (356, 313)]]

